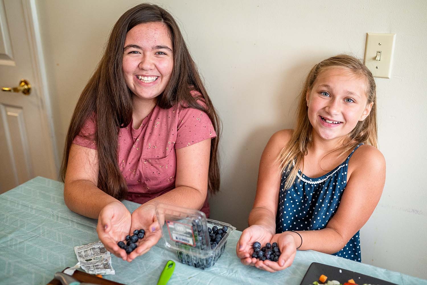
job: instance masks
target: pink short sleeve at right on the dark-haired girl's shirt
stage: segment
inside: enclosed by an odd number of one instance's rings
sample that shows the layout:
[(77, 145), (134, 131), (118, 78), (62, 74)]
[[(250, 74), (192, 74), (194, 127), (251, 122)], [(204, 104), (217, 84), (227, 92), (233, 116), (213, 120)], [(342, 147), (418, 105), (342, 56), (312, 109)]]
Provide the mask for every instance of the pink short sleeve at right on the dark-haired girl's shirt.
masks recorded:
[(208, 114), (194, 108), (179, 110), (175, 149), (188, 147), (214, 137), (216, 132)]

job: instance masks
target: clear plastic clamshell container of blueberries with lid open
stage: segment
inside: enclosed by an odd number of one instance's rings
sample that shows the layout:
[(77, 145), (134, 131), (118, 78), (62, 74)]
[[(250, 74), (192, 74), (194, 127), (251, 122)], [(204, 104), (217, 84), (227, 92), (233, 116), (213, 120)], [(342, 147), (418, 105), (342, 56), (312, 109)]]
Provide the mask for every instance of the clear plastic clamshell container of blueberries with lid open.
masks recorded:
[[(224, 252), (228, 237), (236, 228), (229, 223), (207, 219), (205, 213), (193, 209), (158, 203), (156, 215), (160, 222), (164, 247), (176, 253), (181, 263), (205, 269), (213, 266)], [(211, 248), (208, 227), (216, 226), (227, 232)]]

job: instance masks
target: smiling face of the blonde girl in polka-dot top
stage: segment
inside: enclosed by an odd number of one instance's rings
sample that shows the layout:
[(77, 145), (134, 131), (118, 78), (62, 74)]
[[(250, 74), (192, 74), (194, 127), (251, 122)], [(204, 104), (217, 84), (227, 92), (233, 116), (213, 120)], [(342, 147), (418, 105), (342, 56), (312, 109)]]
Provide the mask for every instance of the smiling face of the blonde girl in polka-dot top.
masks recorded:
[(366, 78), (346, 68), (322, 71), (307, 91), (308, 118), (313, 131), (320, 138), (343, 138), (357, 122), (371, 112), (367, 104)]

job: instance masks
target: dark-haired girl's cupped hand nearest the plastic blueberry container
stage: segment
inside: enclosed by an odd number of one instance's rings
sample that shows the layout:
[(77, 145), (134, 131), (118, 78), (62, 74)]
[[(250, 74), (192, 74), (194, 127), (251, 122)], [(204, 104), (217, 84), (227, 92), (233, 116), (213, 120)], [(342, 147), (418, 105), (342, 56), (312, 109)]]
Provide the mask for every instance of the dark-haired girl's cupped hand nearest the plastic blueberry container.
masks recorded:
[(131, 232), (135, 229), (144, 229), (144, 238), (138, 241), (138, 247), (128, 254), (127, 261), (134, 260), (148, 252), (161, 238), (160, 225), (157, 221), (155, 206), (149, 203), (141, 205), (132, 213)]

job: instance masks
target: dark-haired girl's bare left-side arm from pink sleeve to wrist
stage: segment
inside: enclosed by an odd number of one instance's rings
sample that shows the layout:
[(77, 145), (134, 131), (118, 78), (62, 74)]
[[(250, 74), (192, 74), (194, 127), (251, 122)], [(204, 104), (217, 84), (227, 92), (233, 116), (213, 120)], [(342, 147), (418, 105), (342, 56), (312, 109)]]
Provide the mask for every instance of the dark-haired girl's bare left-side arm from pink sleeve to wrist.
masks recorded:
[(120, 202), (97, 187), (98, 171), (97, 150), (72, 144), (64, 182), (64, 201), (71, 211), (96, 219), (107, 204)]

